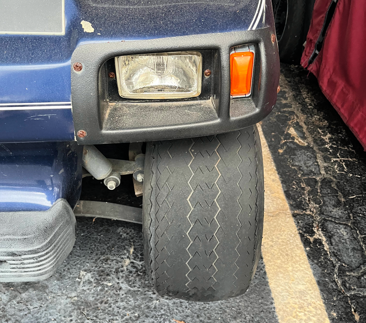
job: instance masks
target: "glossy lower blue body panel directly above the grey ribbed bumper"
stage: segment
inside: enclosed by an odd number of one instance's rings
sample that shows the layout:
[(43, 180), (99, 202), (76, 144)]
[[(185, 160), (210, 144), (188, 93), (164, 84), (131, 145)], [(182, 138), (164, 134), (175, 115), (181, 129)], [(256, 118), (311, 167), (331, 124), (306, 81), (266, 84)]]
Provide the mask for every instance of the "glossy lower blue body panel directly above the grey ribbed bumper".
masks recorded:
[(76, 142), (0, 144), (0, 212), (45, 211), (60, 198), (74, 208), (81, 154)]

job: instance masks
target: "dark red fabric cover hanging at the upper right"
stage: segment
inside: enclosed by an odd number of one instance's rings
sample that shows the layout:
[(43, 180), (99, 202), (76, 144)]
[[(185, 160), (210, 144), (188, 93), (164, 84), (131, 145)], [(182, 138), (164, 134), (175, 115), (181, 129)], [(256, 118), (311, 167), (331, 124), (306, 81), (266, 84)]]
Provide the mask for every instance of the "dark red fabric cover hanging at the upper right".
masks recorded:
[(338, 0), (320, 53), (308, 65), (330, 3), (315, 1), (301, 65), (366, 150), (366, 0)]

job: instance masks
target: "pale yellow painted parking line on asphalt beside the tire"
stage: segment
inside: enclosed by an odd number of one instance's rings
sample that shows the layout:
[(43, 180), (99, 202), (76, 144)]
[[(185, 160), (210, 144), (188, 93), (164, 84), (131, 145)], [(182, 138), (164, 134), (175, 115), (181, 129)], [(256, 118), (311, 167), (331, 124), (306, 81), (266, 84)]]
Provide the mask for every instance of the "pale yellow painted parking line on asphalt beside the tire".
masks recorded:
[(262, 128), (264, 167), (262, 256), (279, 323), (329, 323)]

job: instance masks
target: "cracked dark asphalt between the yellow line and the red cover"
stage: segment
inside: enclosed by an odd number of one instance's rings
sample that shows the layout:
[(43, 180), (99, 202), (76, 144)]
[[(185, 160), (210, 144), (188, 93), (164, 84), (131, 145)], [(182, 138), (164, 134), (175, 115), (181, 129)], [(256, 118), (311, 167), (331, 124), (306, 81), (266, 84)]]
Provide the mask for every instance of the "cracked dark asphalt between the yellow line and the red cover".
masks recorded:
[(262, 127), (331, 322), (366, 322), (366, 154), (301, 67)]

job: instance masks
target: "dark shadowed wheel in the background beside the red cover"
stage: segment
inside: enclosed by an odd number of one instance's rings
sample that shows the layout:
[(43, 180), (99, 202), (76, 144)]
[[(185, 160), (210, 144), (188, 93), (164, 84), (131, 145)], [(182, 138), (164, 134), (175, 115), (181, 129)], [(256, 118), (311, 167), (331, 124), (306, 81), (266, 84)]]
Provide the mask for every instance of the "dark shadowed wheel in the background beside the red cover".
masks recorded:
[(280, 60), (299, 64), (307, 34), (306, 0), (273, 0), (273, 9)]

